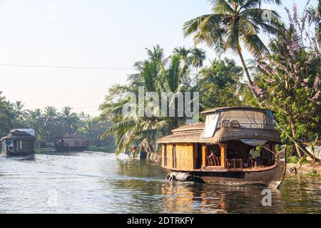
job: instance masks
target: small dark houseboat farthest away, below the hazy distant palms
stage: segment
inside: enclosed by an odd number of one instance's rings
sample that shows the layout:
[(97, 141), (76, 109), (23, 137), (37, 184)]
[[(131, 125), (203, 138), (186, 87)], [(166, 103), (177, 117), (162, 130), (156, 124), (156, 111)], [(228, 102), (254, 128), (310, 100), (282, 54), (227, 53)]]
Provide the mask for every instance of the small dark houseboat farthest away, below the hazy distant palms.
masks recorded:
[(64, 135), (59, 137), (56, 142), (56, 150), (65, 151), (84, 151), (88, 149), (89, 141), (80, 135)]

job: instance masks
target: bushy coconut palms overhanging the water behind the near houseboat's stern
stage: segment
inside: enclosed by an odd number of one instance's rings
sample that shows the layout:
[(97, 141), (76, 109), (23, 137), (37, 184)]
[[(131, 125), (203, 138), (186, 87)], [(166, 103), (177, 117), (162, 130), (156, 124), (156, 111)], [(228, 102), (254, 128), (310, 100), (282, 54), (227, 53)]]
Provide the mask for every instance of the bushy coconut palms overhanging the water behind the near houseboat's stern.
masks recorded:
[[(146, 92), (156, 92), (161, 98), (161, 93), (167, 92), (177, 94), (188, 89), (186, 81), (188, 78), (188, 71), (182, 68), (182, 56), (174, 54), (169, 58), (155, 58), (161, 56), (161, 48), (154, 47), (153, 50), (148, 50), (148, 60), (140, 61), (135, 64), (138, 73), (130, 76), (129, 86), (123, 94), (128, 92), (138, 93), (138, 86), (143, 86)], [(151, 58), (151, 56), (153, 56)], [(119, 93), (119, 90), (113, 90), (114, 93)], [(148, 116), (123, 116), (122, 108), (128, 102), (128, 99), (120, 98), (116, 102), (111, 102), (110, 98), (114, 95), (110, 94), (106, 98), (104, 113), (111, 118), (112, 125), (103, 134), (103, 138), (108, 135), (115, 135), (116, 139), (116, 153), (124, 152), (136, 142), (148, 140), (150, 145), (155, 145), (157, 138), (170, 133), (170, 130), (178, 127), (183, 118), (168, 118), (168, 117), (148, 117)], [(177, 100), (172, 98), (169, 100), (170, 104), (175, 103), (175, 113), (178, 112)], [(160, 110), (160, 107), (154, 107)], [(156, 110), (153, 110), (154, 112)], [(177, 115), (176, 115), (177, 116)]]

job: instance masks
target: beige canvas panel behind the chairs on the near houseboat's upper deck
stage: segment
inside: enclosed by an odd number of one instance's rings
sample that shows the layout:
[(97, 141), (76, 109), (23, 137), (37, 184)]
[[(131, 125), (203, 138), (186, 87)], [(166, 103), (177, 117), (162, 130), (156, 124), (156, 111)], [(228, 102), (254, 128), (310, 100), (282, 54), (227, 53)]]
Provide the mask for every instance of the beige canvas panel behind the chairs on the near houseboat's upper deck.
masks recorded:
[(250, 111), (250, 110), (230, 110), (220, 113), (220, 123), (223, 120), (238, 121), (245, 128), (263, 128), (267, 123), (268, 115), (266, 113)]

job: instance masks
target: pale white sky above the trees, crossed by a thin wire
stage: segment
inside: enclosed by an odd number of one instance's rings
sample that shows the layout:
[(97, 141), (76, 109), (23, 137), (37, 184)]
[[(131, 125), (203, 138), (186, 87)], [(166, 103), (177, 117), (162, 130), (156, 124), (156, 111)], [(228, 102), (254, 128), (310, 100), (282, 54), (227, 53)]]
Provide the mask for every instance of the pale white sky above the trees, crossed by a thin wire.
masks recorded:
[[(292, 9), (294, 2), (283, 5)], [(306, 2), (297, 0), (299, 11)], [(283, 7), (272, 8), (286, 17)], [(183, 38), (183, 23), (209, 11), (206, 0), (0, 0), (0, 91), (26, 109), (68, 105), (99, 115), (108, 88), (126, 83), (133, 63), (146, 58), (145, 48), (160, 44), (169, 55), (193, 46), (191, 37)]]

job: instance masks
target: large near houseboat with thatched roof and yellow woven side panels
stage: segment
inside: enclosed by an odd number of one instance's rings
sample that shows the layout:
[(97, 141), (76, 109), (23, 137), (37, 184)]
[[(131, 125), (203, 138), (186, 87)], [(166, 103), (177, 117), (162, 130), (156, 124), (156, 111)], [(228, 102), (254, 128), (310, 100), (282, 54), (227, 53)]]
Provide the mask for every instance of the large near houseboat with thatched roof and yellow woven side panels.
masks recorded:
[(207, 110), (205, 123), (186, 125), (158, 140), (167, 180), (278, 187), (285, 177), (285, 150), (274, 113), (260, 108)]

